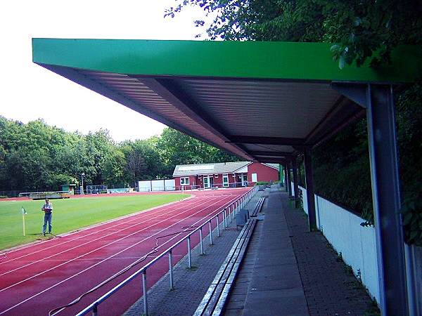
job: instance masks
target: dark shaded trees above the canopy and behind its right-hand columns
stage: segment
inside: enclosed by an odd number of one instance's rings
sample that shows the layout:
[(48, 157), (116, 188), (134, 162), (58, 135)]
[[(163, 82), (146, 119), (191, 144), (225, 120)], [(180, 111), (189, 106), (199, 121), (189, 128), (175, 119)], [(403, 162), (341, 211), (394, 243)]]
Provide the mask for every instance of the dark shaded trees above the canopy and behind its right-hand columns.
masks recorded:
[[(327, 42), (340, 69), (388, 63), (402, 44), (416, 45), (422, 55), (418, 0), (175, 0), (165, 16), (185, 6), (200, 6), (215, 16), (207, 25), (211, 39)], [(399, 91), (395, 104), (406, 238), (422, 246), (422, 80)], [(314, 180), (319, 195), (372, 220), (365, 119), (316, 150)]]

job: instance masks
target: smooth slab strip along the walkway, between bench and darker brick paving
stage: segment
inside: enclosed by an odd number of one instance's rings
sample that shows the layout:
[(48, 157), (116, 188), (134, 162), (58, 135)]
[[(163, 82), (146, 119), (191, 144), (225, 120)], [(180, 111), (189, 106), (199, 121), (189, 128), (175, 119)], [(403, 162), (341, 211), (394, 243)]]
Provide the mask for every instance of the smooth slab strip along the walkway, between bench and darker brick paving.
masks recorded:
[(278, 195), (271, 190), (262, 209), (265, 217), (243, 315), (309, 315)]

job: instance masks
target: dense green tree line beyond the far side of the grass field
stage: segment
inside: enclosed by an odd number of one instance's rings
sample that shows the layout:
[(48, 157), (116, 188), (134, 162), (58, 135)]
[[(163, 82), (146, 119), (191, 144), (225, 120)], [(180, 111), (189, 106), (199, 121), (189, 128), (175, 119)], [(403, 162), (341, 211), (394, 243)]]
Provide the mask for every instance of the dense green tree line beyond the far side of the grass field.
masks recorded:
[(0, 117), (0, 191), (60, 190), (81, 182), (110, 187), (171, 178), (176, 164), (238, 157), (167, 128), (160, 136), (115, 143), (107, 130), (66, 132), (41, 119), (23, 124)]

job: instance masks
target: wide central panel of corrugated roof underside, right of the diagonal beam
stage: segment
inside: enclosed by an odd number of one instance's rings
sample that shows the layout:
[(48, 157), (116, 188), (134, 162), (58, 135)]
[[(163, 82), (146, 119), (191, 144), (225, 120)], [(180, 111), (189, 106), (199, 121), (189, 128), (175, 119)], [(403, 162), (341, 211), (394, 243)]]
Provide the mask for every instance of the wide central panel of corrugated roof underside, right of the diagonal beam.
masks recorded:
[(324, 83), (177, 81), (230, 135), (305, 138), (340, 97)]

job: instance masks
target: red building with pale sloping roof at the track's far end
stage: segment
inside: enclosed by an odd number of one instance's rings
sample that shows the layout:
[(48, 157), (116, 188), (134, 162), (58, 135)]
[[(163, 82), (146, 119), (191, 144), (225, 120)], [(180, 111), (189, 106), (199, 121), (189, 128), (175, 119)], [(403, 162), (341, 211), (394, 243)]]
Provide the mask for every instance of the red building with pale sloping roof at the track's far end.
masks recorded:
[(243, 187), (257, 182), (279, 180), (278, 164), (259, 162), (221, 162), (215, 164), (184, 164), (174, 168), (177, 190), (211, 187)]

